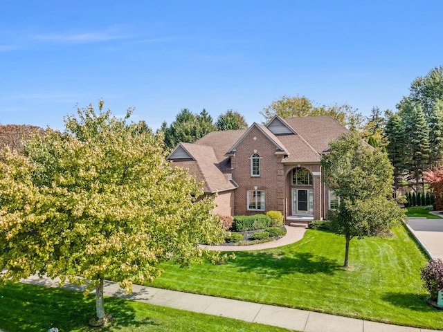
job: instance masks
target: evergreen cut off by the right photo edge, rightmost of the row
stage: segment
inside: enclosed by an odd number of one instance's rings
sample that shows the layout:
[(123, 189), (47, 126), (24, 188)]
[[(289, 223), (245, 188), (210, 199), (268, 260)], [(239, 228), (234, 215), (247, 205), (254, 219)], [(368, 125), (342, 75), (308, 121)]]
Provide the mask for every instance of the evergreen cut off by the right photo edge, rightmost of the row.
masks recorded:
[(436, 100), (428, 118), (429, 122), (429, 167), (438, 167), (443, 156), (443, 100)]

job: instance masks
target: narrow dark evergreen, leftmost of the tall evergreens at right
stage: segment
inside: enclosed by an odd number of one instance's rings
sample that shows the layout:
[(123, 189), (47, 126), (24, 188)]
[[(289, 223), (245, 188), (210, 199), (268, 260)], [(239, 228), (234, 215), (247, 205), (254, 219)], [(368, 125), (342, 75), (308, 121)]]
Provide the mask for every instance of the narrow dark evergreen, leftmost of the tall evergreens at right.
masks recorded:
[[(405, 130), (404, 122), (398, 114), (392, 114), (385, 126), (385, 136), (388, 140), (386, 151), (392, 166), (394, 167), (394, 187), (399, 188), (399, 181), (404, 174), (405, 158)], [(409, 202), (410, 203), (410, 202)]]

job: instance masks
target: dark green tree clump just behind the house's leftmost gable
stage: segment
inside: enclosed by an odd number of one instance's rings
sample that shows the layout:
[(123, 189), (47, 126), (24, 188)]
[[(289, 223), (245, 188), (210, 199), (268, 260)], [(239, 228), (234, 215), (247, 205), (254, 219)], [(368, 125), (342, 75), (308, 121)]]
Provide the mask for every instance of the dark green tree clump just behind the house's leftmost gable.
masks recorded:
[(189, 109), (182, 109), (170, 126), (166, 122), (161, 125), (161, 131), (165, 136), (165, 147), (170, 149), (179, 142), (193, 143), (214, 130), (213, 118), (206, 109), (203, 109), (200, 114), (193, 114)]

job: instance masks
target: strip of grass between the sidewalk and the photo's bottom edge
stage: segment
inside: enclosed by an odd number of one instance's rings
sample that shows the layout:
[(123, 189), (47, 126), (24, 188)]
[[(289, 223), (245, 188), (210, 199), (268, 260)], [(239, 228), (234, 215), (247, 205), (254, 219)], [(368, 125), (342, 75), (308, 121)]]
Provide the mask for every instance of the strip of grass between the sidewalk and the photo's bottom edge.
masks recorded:
[(0, 287), (0, 329), (10, 332), (41, 332), (51, 327), (57, 327), (60, 332), (289, 331), (112, 297), (105, 299), (105, 308), (114, 319), (102, 329), (93, 329), (88, 326), (89, 318), (95, 313), (92, 295), (85, 298), (75, 291), (28, 284)]

